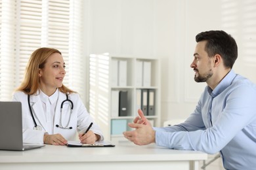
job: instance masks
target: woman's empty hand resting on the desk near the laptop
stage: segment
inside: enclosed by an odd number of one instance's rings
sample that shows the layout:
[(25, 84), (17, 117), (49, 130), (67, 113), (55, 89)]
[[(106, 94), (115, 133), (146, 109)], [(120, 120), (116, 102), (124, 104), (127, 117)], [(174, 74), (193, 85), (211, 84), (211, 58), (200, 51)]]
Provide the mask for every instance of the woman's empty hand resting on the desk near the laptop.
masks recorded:
[(45, 133), (45, 135), (43, 136), (43, 143), (53, 145), (66, 145), (68, 141), (59, 133), (54, 135), (48, 135), (47, 133)]

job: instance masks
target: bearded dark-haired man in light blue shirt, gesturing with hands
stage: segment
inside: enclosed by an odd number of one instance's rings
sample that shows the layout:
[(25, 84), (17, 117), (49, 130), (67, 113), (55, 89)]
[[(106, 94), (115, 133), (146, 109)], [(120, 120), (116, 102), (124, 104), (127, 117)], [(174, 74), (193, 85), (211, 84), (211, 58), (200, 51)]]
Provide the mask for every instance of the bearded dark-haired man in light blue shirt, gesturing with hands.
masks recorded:
[(256, 86), (232, 69), (236, 41), (224, 31), (205, 31), (196, 35), (196, 42), (190, 67), (194, 80), (207, 86), (194, 112), (177, 126), (152, 127), (139, 110), (129, 124), (135, 130), (123, 135), (138, 145), (220, 152), (225, 169), (255, 169)]

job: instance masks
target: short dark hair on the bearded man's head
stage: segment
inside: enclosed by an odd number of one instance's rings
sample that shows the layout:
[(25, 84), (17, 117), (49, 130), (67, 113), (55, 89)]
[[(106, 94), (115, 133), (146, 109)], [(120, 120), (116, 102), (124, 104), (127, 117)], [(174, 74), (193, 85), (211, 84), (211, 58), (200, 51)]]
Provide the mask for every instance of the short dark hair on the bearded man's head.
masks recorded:
[(238, 46), (231, 35), (225, 31), (205, 31), (196, 35), (196, 42), (207, 41), (205, 51), (209, 57), (221, 55), (224, 66), (232, 69), (238, 58)]

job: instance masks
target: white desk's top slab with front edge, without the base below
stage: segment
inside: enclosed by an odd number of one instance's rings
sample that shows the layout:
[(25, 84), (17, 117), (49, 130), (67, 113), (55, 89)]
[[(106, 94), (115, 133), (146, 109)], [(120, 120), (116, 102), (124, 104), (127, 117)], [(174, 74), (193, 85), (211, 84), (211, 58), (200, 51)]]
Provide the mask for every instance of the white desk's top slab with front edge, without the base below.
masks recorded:
[(26, 151), (0, 150), (0, 163), (182, 161), (206, 160), (207, 154), (192, 150), (172, 150), (150, 144), (137, 146), (119, 141), (115, 147), (70, 148), (46, 145)]

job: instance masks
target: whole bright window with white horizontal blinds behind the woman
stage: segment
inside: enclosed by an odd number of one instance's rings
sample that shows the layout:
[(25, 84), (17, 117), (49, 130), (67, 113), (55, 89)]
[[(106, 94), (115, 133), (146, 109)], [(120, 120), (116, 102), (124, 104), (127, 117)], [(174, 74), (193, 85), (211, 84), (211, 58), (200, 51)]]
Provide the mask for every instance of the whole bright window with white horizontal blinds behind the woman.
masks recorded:
[(32, 52), (57, 48), (66, 63), (64, 84), (85, 99), (83, 0), (0, 0), (0, 100), (11, 99)]

